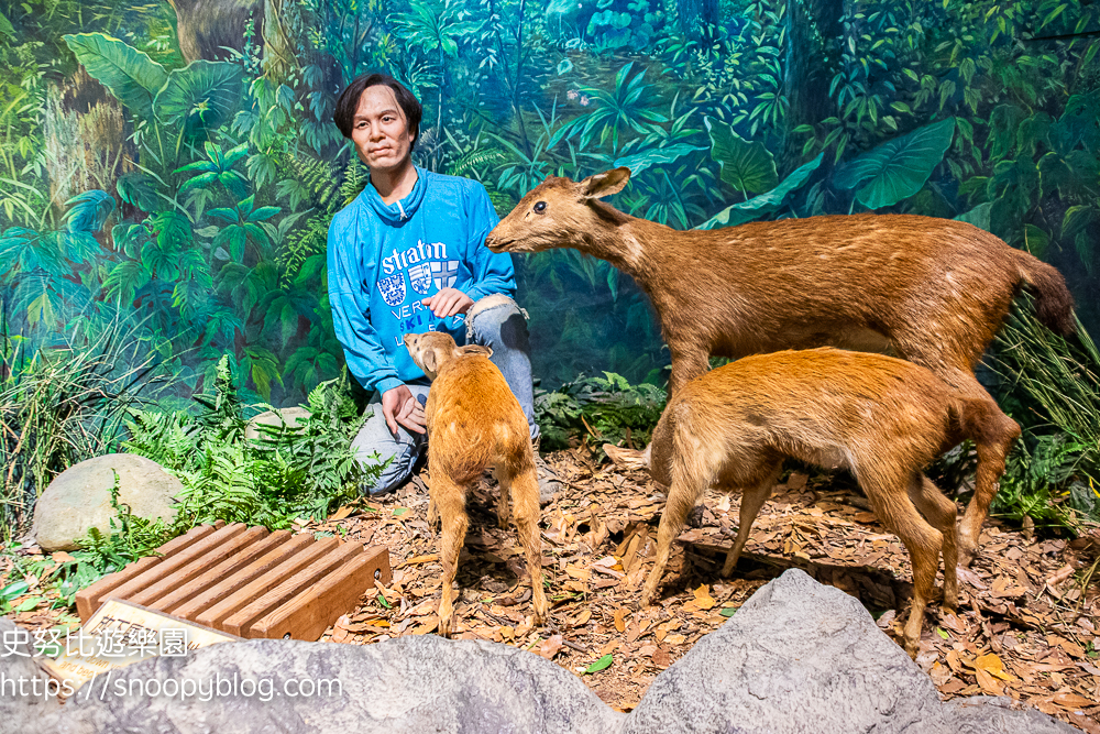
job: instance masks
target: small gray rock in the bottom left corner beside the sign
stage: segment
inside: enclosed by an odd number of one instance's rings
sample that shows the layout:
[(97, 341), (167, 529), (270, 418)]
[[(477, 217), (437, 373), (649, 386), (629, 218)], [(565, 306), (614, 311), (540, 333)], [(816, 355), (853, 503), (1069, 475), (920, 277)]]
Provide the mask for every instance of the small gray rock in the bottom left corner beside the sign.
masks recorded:
[[(0, 617), (0, 732), (33, 732), (43, 716), (61, 711), (57, 683), (31, 657), (31, 647), (21, 640), (29, 633), (8, 617)], [(30, 637), (28, 636), (28, 639)], [(9, 643), (14, 643), (9, 646)]]

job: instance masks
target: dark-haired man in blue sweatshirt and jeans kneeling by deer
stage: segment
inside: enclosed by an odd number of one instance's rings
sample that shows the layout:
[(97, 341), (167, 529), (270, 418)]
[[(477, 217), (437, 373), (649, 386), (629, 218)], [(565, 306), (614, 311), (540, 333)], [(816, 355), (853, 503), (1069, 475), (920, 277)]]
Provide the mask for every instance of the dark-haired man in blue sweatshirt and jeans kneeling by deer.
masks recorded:
[[(371, 416), (352, 446), (365, 461), (375, 451), (393, 461), (372, 494), (408, 479), (426, 449), (428, 381), (403, 343), (405, 333), (447, 331), (462, 343), (486, 344), (538, 439), (530, 343), (514, 300), (508, 254), (485, 248), (497, 216), (485, 187), (413, 164), (422, 110), (385, 74), (353, 80), (333, 119), (371, 171), (371, 183), (329, 228), (329, 304), (348, 369), (375, 393)], [(541, 500), (561, 483), (536, 451)]]

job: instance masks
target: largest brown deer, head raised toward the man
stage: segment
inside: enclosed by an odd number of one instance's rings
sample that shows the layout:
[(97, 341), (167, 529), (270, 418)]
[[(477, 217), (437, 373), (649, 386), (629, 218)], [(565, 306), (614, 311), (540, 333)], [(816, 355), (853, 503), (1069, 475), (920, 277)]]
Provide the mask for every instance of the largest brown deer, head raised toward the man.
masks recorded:
[[(909, 215), (811, 217), (678, 231), (600, 201), (630, 178), (548, 177), (490, 232), (494, 252), (573, 248), (641, 286), (672, 357), (669, 395), (714, 355), (782, 349), (890, 351), (965, 396), (992, 403), (974, 368), (1022, 286), (1050, 329), (1074, 330), (1057, 270), (972, 224)], [(976, 491), (959, 529), (969, 563), (997, 485)]]

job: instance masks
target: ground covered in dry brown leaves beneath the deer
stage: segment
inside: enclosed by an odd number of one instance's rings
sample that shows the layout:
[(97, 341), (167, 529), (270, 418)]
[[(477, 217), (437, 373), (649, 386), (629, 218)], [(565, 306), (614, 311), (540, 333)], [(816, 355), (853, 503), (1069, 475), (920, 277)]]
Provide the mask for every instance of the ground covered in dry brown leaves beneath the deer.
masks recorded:
[[(658, 673), (791, 567), (856, 596), (879, 627), (901, 639), (909, 558), (850, 480), (807, 481), (794, 472), (780, 483), (729, 581), (717, 572), (736, 532), (738, 499), (710, 492), (673, 550), (660, 604), (639, 610), (663, 495), (647, 473), (597, 464), (583, 448), (548, 462), (566, 482), (564, 496), (542, 515), (550, 624), (532, 628), (521, 548), (514, 526), (497, 528), (496, 487), (487, 480), (469, 502), (457, 637), (539, 654), (580, 675), (620, 711), (637, 705)], [(322, 640), (367, 645), (436, 629), (440, 566), (426, 519), (426, 480), (424, 472), (385, 499), (296, 526), (389, 548), (393, 583), (365, 595)], [(987, 524), (978, 559), (961, 570), (959, 614), (942, 613), (934, 603), (926, 615), (917, 661), (942, 697), (1008, 695), (1100, 734), (1097, 545)], [(40, 607), (16, 621), (36, 628), (70, 618), (58, 615)]]

